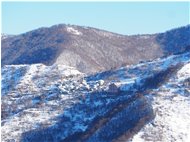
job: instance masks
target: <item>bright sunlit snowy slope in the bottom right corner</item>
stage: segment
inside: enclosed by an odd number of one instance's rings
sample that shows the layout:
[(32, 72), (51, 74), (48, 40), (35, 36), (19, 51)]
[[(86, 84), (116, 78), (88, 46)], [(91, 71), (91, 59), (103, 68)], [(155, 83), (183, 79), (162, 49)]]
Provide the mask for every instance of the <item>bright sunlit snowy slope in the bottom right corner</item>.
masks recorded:
[(155, 119), (142, 128), (132, 142), (189, 142), (190, 62), (146, 97), (152, 101)]

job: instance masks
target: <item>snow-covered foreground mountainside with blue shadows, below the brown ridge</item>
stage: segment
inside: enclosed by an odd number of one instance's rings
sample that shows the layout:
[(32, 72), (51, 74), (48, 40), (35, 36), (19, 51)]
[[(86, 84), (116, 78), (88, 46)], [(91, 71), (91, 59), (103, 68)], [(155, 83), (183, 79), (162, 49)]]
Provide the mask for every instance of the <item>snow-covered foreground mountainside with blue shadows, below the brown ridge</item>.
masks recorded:
[(93, 75), (5, 65), (1, 100), (3, 142), (188, 142), (190, 52)]

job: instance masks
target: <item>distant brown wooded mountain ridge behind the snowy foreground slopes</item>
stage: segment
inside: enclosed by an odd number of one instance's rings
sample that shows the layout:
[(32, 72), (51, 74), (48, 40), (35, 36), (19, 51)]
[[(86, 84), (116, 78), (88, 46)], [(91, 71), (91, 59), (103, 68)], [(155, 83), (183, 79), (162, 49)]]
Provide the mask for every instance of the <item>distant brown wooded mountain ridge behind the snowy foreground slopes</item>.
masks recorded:
[(125, 36), (91, 27), (55, 25), (2, 39), (2, 65), (54, 63), (84, 73), (136, 64), (190, 49), (190, 26)]

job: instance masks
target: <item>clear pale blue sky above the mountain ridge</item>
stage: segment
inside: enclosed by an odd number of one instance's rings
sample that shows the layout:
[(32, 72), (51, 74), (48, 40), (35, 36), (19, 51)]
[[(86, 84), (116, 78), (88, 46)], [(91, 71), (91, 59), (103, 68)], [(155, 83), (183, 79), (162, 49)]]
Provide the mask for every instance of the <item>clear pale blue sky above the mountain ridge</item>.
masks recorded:
[(3, 2), (2, 33), (20, 34), (65, 23), (120, 34), (164, 32), (184, 26), (190, 2)]

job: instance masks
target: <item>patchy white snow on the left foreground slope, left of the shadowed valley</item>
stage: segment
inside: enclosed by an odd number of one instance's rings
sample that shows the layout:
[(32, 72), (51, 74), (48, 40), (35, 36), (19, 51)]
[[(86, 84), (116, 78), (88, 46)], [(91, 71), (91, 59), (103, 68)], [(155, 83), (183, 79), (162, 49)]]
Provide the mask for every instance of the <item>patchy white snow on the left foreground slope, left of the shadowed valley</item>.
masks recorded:
[[(67, 92), (72, 89), (72, 77), (83, 77), (83, 74), (73, 67), (56, 64), (52, 66), (43, 64), (7, 65), (3, 67), (2, 71), (4, 87), (9, 85), (12, 80), (18, 80), (15, 85), (9, 87), (9, 92), (3, 92), (5, 95), (2, 98), (2, 104), (5, 109), (9, 110), (10, 115), (4, 118), (4, 125), (1, 127), (3, 142), (10, 141), (10, 139), (20, 141), (24, 132), (36, 127), (53, 125), (54, 121), (50, 121), (50, 119), (62, 114), (63, 108), (76, 103), (77, 99), (73, 99), (74, 95), (56, 94), (52, 91), (56, 91), (59, 89), (59, 85), (64, 83), (66, 84), (64, 89)], [(23, 73), (21, 74), (21, 72)], [(70, 77), (71, 75), (72, 77)], [(57, 86), (57, 84), (59, 85)], [(16, 91), (12, 91), (14, 89)], [(60, 88), (60, 90), (62, 89)], [(52, 106), (58, 109), (53, 109)], [(14, 112), (19, 109), (23, 111)]]

